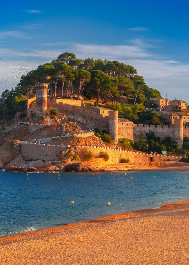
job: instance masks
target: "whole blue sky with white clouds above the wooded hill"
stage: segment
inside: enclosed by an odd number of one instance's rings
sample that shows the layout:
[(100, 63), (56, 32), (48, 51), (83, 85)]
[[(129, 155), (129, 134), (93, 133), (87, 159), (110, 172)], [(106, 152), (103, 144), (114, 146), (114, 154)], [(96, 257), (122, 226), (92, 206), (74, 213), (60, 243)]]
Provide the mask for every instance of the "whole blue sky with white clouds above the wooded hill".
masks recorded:
[(189, 103), (189, 2), (3, 1), (0, 95), (38, 65), (73, 52), (134, 66), (162, 97)]

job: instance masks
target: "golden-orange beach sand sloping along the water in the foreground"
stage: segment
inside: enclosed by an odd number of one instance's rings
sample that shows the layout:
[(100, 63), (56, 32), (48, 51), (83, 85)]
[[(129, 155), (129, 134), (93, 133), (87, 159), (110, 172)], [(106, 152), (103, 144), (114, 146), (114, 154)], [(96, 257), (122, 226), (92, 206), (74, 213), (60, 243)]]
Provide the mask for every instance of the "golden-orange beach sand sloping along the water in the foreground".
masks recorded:
[(189, 264), (188, 228), (185, 200), (2, 238), (0, 264)]

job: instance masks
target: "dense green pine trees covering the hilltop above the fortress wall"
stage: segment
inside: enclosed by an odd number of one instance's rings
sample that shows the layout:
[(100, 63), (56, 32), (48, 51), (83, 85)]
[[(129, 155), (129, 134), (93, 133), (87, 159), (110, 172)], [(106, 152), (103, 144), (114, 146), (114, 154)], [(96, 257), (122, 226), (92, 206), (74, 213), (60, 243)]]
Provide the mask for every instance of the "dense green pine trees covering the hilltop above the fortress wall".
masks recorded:
[[(46, 75), (50, 75), (51, 79), (46, 80)], [(110, 105), (109, 108), (119, 112), (122, 110), (125, 112), (122, 115), (123, 118), (135, 123), (166, 124), (165, 119), (158, 117), (158, 114), (146, 115), (141, 112), (144, 110), (147, 99), (161, 97), (161, 95), (159, 91), (146, 85), (143, 76), (137, 75), (133, 66), (118, 61), (102, 61), (93, 58), (81, 60), (69, 52), (62, 53), (56, 60), (39, 65), (36, 70), (21, 76), (15, 89), (5, 90), (0, 98), (0, 119), (11, 119), (17, 111), (24, 111), (26, 109), (24, 96), (30, 91), (35, 92), (35, 83), (42, 82), (51, 83), (55, 88), (55, 96), (56, 89), (61, 84), (62, 97), (63, 89), (66, 89), (68, 97), (69, 89), (74, 87), (77, 98), (81, 94), (86, 101), (97, 97), (99, 104), (101, 96), (104, 100), (109, 98), (112, 105), (114, 105), (115, 97), (119, 95), (134, 99), (139, 88), (135, 106), (125, 104), (121, 106), (116, 102), (115, 106)], [(133, 103), (134, 100), (130, 100), (130, 102)]]

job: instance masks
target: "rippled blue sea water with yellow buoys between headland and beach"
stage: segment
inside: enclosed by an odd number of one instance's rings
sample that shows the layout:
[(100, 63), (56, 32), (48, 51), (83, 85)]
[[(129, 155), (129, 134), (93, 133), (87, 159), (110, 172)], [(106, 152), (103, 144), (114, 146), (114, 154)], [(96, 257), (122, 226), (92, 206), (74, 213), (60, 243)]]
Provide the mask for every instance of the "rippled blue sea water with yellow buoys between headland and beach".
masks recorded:
[(125, 172), (95, 175), (86, 172), (60, 173), (60, 176), (28, 173), (27, 176), (27, 173), (0, 171), (0, 237), (157, 208), (188, 198), (189, 172), (129, 171), (126, 175)]

